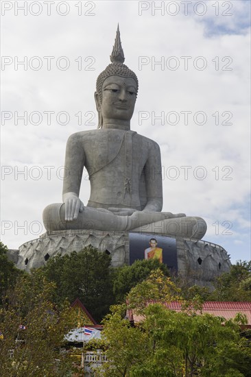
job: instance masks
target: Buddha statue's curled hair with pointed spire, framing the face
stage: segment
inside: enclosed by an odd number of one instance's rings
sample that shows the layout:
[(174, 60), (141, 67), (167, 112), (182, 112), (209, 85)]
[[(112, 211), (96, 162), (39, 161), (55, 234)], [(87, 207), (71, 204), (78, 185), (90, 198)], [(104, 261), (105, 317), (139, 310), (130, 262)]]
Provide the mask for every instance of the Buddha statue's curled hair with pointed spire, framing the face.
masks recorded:
[[(139, 89), (139, 82), (135, 73), (131, 71), (128, 68), (128, 66), (123, 64), (123, 62), (125, 61), (125, 56), (123, 55), (123, 49), (122, 49), (121, 40), (120, 40), (119, 25), (117, 27), (115, 45), (113, 46), (112, 54), (110, 55), (110, 61), (111, 63), (97, 77), (96, 91), (97, 91), (97, 94), (99, 95), (100, 104), (102, 103), (102, 86), (104, 84), (104, 80), (106, 80), (107, 77), (110, 77), (113, 75), (120, 76), (120, 77), (131, 77), (136, 82), (136, 95)], [(101, 128), (102, 125), (103, 125), (103, 120), (102, 120), (101, 112), (99, 111), (99, 124), (97, 127)]]

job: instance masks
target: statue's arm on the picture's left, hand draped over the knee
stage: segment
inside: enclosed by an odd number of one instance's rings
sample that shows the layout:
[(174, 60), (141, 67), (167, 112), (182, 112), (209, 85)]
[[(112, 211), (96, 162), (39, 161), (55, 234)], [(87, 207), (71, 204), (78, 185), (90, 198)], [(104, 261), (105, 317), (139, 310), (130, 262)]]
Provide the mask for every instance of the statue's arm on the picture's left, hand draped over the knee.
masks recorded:
[(64, 168), (62, 199), (65, 204), (65, 220), (72, 221), (84, 209), (84, 204), (78, 197), (84, 169), (84, 148), (77, 134), (71, 135), (67, 141)]

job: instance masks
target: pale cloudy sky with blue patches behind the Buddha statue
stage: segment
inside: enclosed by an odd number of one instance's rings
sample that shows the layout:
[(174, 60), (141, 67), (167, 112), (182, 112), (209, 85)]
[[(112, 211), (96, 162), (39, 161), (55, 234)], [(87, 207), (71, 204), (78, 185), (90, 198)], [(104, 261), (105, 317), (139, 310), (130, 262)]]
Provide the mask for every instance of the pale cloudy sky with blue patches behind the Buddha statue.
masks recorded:
[(160, 145), (163, 210), (203, 217), (206, 241), (250, 260), (249, 1), (1, 1), (1, 14), (5, 245), (38, 238), (61, 202), (67, 138), (97, 126), (119, 22), (139, 77), (131, 129)]

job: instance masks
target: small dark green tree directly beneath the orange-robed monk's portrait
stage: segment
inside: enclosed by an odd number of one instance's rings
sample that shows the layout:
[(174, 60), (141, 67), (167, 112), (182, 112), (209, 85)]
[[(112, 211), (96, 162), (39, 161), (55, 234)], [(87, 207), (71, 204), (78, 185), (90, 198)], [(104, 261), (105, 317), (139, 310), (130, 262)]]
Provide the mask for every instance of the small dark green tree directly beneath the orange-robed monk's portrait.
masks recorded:
[(115, 301), (123, 303), (130, 289), (145, 280), (155, 269), (160, 269), (165, 276), (169, 276), (169, 269), (166, 265), (160, 263), (158, 259), (135, 260), (131, 266), (124, 265), (117, 268), (115, 279), (113, 280)]

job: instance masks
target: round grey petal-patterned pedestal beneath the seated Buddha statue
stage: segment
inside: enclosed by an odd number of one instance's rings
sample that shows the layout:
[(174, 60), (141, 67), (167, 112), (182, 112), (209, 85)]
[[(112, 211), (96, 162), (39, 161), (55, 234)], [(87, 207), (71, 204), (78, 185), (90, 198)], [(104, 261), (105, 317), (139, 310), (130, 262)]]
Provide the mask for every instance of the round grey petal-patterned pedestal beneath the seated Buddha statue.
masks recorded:
[[(152, 238), (154, 237), (154, 238)], [(19, 250), (9, 250), (9, 258), (19, 269), (29, 271), (47, 263), (60, 254), (80, 252), (92, 245), (112, 258), (112, 267), (130, 265), (136, 259), (144, 259), (151, 239), (158, 241), (163, 250), (163, 263), (178, 271), (180, 276), (198, 284), (208, 285), (215, 277), (230, 270), (230, 258), (223, 247), (208, 241), (172, 238), (165, 234), (137, 232), (109, 232), (99, 230), (61, 230), (45, 233)]]

